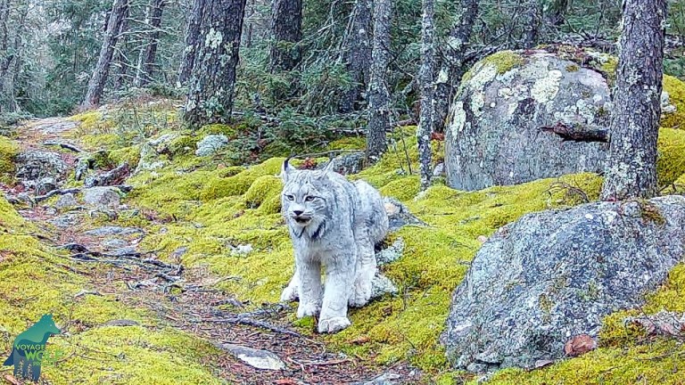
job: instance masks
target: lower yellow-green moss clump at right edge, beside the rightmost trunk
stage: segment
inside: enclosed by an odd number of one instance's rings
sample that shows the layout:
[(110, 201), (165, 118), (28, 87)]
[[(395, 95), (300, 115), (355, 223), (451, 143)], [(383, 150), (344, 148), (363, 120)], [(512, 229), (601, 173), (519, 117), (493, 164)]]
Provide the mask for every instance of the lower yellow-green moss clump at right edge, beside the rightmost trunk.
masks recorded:
[(685, 174), (685, 130), (661, 128), (657, 149), (657, 180), (664, 187)]

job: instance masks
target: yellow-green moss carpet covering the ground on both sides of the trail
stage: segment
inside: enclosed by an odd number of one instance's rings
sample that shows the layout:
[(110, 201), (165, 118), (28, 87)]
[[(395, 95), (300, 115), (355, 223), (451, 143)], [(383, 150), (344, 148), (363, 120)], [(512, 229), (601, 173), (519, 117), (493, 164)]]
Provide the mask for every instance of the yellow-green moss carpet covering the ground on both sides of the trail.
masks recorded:
[[(89, 114), (79, 119), (85, 122), (88, 119), (100, 121)], [(106, 121), (98, 124), (108, 125)], [(227, 132), (227, 127), (214, 128), (222, 133)], [(685, 173), (682, 169), (685, 152), (681, 151), (685, 133), (663, 129), (662, 134), (659, 143), (660, 181), (673, 183), (679, 177), (682, 179), (681, 175)], [(87, 150), (95, 151), (103, 147), (110, 151), (111, 156), (118, 153), (120, 159), (135, 159), (138, 143), (121, 143), (109, 135), (101, 132), (87, 136)], [(400, 135), (404, 136), (404, 141), (400, 140)], [(464, 381), (469, 377), (462, 373), (445, 372), (447, 367), (438, 337), (444, 328), (451, 293), (463, 279), (469, 261), (480, 247), (478, 237), (489, 236), (499, 226), (529, 212), (581, 203), (581, 197), (574, 194), (573, 190), (565, 189), (564, 185), (582, 189), (590, 200), (597, 199), (601, 178), (590, 174), (564, 176), (559, 178), (564, 184), (558, 184), (557, 179), (544, 179), (470, 193), (452, 190), (438, 180), (426, 193), (418, 194), (413, 127), (396, 133), (393, 139), (396, 145), (391, 146), (392, 151), (376, 166), (351, 178), (363, 178), (384, 195), (400, 199), (429, 226), (402, 228), (388, 240), (392, 242), (402, 237), (406, 245), (400, 260), (382, 268), (384, 274), (398, 285), (400, 294), (352, 310), (351, 328), (333, 336), (318, 338), (326, 340), (334, 348), (367, 359), (369, 363), (388, 364), (409, 360), (429, 374), (439, 375), (434, 379), (438, 383)], [(226, 167), (220, 157), (194, 157), (194, 135), (182, 135), (176, 141), (178, 143), (170, 146), (170, 154), (161, 154), (161, 159), (166, 160), (164, 168), (145, 171), (128, 181), (135, 189), (128, 194), (126, 203), (144, 210), (156, 220), (150, 222), (141, 217), (121, 216), (118, 223), (144, 226), (148, 236), (140, 245), (141, 248), (159, 250), (162, 259), (183, 246), (187, 251), (180, 262), (186, 267), (202, 268), (207, 274), (218, 277), (234, 277), (219, 283), (218, 289), (234, 293), (238, 299), (248, 301), (250, 306), (259, 307), (263, 303), (276, 302), (293, 274), (291, 242), (279, 214), (281, 184), (277, 174), (284, 158), (273, 158), (251, 167)], [(440, 143), (435, 144), (437, 147)], [(111, 151), (108, 146), (113, 146), (115, 150)], [(331, 143), (330, 147), (351, 150), (363, 147), (363, 141), (359, 138), (345, 139)], [(436, 153), (435, 158), (441, 159), (442, 154)], [(409, 173), (410, 169), (413, 173)], [(21, 233), (32, 231), (26, 229), (28, 225), (13, 213), (6, 202), (0, 201), (0, 206), (3, 204), (8, 209), (0, 207), (0, 213), (3, 213), (0, 227)], [(105, 375), (114, 376), (114, 373), (123, 377), (108, 377), (103, 378), (103, 381), (216, 381), (206, 366), (200, 364), (200, 357), (210, 355), (212, 348), (186, 334), (172, 332), (144, 311), (124, 307), (111, 297), (73, 299), (73, 293), (87, 288), (87, 281), (55, 265), (57, 262), (64, 264), (64, 258), (46, 250), (35, 238), (15, 236), (23, 238), (5, 240), (3, 237), (0, 242), (0, 250), (9, 250), (0, 254), (4, 256), (4, 261), (0, 263), (9, 261), (8, 265), (3, 265), (7, 266), (7, 274), (26, 278), (0, 283), (0, 298), (10, 304), (6, 309), (0, 308), (0, 322), (4, 327), (15, 335), (30, 320), (53, 311), (62, 322), (79, 318), (89, 326), (87, 331), (69, 339), (54, 340), (55, 345), (64, 348), (68, 354), (76, 349), (78, 341), (82, 346), (97, 350), (85, 356), (106, 359), (123, 354), (130, 357), (130, 365), (108, 363), (96, 366), (93, 370), (92, 362), (76, 356), (65, 363), (69, 370), (46, 369), (46, 375), (54, 383), (66, 383), (67, 379), (90, 382)], [(13, 241), (8, 241), (11, 239)], [(245, 244), (252, 245), (254, 250), (247, 255), (234, 252), (237, 246)], [(671, 301), (685, 307), (685, 301), (681, 299), (685, 298), (682, 296), (682, 291), (685, 291), (685, 279), (682, 278), (685, 272), (681, 270), (685, 269), (674, 270), (671, 279), (673, 284), (669, 283), (671, 289), (664, 289), (670, 294), (657, 294), (655, 301), (661, 298), (659, 301)], [(45, 287), (51, 290), (43, 290)], [(134, 319), (141, 326), (102, 326), (114, 318)], [(312, 320), (296, 321), (293, 314), (289, 321), (301, 332), (312, 333)], [(607, 325), (612, 327), (610, 319)], [(98, 342), (101, 340), (104, 342)], [(0, 351), (7, 350), (9, 343), (5, 341), (4, 346), (0, 345)], [(104, 346), (100, 347), (98, 343)], [(663, 355), (666, 349), (674, 347), (673, 342), (657, 340), (648, 346), (625, 340), (615, 343), (615, 346), (602, 347), (588, 356), (532, 373), (508, 370), (499, 373), (493, 381), (578, 383), (576, 379), (594, 379), (598, 373), (606, 372), (606, 377), (601, 378), (615, 382), (604, 383), (625, 383), (621, 381), (629, 379), (630, 373), (640, 371), (649, 379), (656, 379), (650, 373), (662, 373), (664, 367), (672, 363), (667, 357), (659, 358), (656, 363), (646, 358)], [(649, 347), (655, 347), (655, 350), (650, 351)], [(619, 359), (619, 352), (623, 351), (629, 356)], [(173, 365), (178, 368), (172, 369)], [(628, 374), (619, 373), (623, 366)], [(104, 371), (104, 367), (113, 369)], [(670, 378), (664, 378), (670, 381)]]

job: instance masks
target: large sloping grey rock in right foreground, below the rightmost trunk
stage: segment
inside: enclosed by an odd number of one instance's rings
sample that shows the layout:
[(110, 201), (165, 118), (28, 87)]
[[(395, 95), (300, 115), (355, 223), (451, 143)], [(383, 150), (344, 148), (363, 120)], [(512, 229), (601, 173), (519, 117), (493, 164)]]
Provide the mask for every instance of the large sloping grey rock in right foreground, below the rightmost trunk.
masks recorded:
[(683, 196), (526, 215), (476, 254), (442, 343), (453, 365), (477, 371), (562, 358), (604, 316), (640, 307), (683, 255)]

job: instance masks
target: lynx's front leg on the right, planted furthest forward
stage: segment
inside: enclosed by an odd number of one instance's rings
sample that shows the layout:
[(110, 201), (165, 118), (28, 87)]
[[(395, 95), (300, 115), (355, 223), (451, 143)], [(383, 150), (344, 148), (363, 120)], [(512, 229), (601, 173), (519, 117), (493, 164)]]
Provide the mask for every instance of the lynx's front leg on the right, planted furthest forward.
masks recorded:
[[(354, 251), (353, 251), (354, 252)], [(331, 258), (326, 265), (326, 289), (318, 332), (340, 332), (350, 326), (347, 302), (354, 283), (354, 253)]]

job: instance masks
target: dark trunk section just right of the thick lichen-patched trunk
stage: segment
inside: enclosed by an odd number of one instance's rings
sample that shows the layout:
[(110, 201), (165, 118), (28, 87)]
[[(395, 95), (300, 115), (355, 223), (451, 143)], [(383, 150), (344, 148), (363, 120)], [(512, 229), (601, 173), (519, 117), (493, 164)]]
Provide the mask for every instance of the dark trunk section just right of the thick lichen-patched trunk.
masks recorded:
[(271, 71), (293, 70), (300, 62), (302, 0), (273, 0), (271, 33)]

